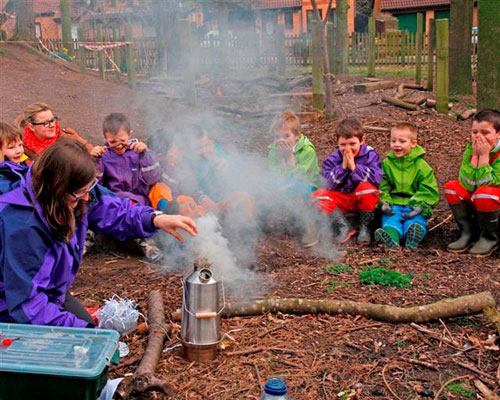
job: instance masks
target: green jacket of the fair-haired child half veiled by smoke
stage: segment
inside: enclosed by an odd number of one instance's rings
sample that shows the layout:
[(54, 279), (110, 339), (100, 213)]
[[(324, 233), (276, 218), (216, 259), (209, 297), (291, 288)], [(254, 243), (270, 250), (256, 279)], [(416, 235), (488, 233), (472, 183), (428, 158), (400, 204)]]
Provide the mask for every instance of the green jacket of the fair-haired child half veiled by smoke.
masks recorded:
[(276, 143), (271, 143), (267, 159), (269, 160), (269, 165), (280, 175), (305, 179), (311, 186), (318, 188), (320, 178), (318, 156), (316, 155), (314, 145), (306, 136), (300, 135), (293, 149), (293, 155), (295, 157), (294, 167), (280, 165)]

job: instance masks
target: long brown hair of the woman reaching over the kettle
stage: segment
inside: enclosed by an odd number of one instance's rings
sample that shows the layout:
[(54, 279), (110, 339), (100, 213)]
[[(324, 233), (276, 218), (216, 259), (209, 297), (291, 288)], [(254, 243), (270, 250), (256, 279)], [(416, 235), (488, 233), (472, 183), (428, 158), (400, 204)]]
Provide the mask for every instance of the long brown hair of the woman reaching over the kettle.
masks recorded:
[(42, 152), (33, 165), (32, 188), (52, 233), (68, 242), (76, 229), (75, 214), (86, 211), (80, 200), (73, 210), (67, 195), (95, 179), (97, 169), (85, 146), (72, 138), (61, 138)]

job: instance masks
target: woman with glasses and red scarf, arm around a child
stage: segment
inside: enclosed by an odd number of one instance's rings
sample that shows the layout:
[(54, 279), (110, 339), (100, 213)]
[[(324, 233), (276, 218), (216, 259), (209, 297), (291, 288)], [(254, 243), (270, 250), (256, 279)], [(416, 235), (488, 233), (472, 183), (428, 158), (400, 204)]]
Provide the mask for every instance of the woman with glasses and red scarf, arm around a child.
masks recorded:
[(94, 147), (73, 128), (65, 127), (60, 129), (54, 110), (45, 103), (30, 104), (17, 117), (16, 124), (24, 132), (24, 151), (31, 159), (62, 136), (73, 137), (85, 145), (88, 151), (91, 151)]

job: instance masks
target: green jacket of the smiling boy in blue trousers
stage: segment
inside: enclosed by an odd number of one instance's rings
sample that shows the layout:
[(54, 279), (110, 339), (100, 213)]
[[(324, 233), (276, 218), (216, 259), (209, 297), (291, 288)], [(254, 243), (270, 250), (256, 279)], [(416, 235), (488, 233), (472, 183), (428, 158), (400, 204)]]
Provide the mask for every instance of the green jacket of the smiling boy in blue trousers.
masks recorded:
[(384, 176), (380, 182), (380, 200), (390, 205), (422, 207), (429, 218), (439, 201), (439, 191), (431, 166), (424, 160), (425, 150), (415, 146), (398, 158), (391, 150), (382, 161)]

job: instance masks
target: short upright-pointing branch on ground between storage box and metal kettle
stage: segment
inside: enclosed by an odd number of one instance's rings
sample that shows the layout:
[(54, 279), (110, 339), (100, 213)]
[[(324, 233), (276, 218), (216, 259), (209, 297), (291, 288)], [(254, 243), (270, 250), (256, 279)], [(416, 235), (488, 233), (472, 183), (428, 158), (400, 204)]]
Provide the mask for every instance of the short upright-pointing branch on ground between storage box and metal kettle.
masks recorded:
[(154, 376), (154, 371), (163, 350), (165, 336), (172, 327), (165, 324), (163, 298), (158, 290), (153, 290), (148, 297), (149, 337), (146, 351), (141, 363), (131, 377), (120, 382), (116, 395), (119, 399), (127, 399), (132, 392), (159, 391), (167, 396), (175, 393), (173, 388), (163, 379)]

